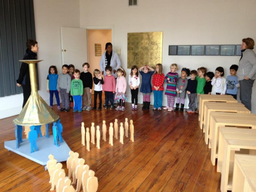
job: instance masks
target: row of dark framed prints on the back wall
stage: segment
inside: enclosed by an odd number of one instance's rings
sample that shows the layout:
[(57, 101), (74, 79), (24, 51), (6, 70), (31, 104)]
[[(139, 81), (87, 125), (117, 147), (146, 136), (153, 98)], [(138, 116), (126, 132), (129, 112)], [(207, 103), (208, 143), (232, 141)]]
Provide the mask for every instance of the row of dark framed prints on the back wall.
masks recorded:
[(241, 45), (169, 45), (169, 55), (241, 56)]

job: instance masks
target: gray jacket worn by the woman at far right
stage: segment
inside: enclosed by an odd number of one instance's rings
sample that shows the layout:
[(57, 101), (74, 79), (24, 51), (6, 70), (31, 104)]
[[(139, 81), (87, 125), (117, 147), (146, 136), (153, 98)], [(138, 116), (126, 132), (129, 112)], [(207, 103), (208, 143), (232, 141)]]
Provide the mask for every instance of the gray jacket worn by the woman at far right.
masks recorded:
[(243, 57), (239, 61), (237, 70), (238, 80), (242, 81), (244, 76), (248, 76), (250, 79), (255, 79), (256, 73), (256, 54), (252, 49), (246, 49), (243, 52)]

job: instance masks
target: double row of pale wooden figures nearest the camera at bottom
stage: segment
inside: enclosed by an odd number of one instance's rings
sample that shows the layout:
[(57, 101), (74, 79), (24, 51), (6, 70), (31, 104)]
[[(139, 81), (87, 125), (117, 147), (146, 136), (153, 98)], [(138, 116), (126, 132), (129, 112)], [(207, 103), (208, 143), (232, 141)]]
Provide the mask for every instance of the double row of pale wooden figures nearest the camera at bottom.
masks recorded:
[[(50, 154), (46, 168), (50, 175), (49, 183), (52, 184), (51, 191), (56, 188), (56, 192), (79, 192), (83, 186), (83, 192), (96, 192), (98, 189), (98, 178), (94, 176), (95, 172), (89, 170), (89, 165), (85, 164), (83, 158), (78, 158), (79, 154), (69, 151), (67, 159), (68, 177), (65, 177), (65, 170), (62, 164), (57, 163), (54, 156)], [(71, 183), (71, 177), (73, 181)], [(76, 183), (76, 190), (72, 184)]]

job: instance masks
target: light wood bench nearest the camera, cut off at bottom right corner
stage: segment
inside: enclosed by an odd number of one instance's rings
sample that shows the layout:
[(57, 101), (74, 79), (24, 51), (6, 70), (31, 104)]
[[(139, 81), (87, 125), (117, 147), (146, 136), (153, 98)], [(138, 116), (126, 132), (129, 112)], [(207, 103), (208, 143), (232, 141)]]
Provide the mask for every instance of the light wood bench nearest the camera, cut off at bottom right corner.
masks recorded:
[(256, 192), (256, 156), (235, 154), (232, 192)]

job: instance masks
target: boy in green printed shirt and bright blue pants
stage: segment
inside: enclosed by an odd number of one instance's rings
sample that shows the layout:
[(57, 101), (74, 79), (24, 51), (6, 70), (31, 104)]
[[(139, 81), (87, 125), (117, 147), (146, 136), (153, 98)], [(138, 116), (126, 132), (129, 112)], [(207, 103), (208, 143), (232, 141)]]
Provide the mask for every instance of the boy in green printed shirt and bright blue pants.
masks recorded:
[(84, 93), (84, 86), (83, 86), (83, 81), (79, 79), (80, 71), (78, 69), (75, 69), (74, 77), (75, 79), (71, 81), (71, 89), (70, 89), (70, 94), (73, 97), (73, 101), (74, 101), (73, 112), (78, 111), (79, 113), (81, 113), (82, 112), (82, 95)]

